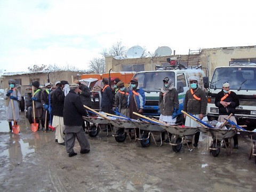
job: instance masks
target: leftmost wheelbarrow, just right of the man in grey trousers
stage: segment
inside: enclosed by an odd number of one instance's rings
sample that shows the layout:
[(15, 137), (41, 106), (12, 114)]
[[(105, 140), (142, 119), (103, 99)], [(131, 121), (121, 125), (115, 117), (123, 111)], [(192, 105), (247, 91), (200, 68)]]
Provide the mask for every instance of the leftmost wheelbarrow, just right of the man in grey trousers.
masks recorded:
[[(100, 125), (107, 125), (109, 124), (108, 119), (104, 119), (102, 117), (97, 117), (97, 116), (90, 116), (90, 117), (84, 117), (83, 119), (87, 122), (92, 123), (93, 125), (91, 125), (88, 129), (88, 134), (90, 137), (96, 137), (100, 130), (101, 130), (101, 126)], [(107, 136), (108, 136), (108, 129), (107, 129)]]

